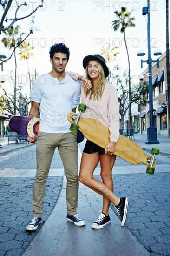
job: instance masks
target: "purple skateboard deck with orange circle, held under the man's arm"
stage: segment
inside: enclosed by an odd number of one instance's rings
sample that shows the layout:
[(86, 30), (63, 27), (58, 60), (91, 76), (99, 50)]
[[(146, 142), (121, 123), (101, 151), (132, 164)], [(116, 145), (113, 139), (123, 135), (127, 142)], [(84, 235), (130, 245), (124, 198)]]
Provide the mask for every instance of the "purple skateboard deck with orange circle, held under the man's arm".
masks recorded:
[(9, 129), (21, 135), (33, 137), (38, 134), (39, 118), (14, 115), (9, 120)]

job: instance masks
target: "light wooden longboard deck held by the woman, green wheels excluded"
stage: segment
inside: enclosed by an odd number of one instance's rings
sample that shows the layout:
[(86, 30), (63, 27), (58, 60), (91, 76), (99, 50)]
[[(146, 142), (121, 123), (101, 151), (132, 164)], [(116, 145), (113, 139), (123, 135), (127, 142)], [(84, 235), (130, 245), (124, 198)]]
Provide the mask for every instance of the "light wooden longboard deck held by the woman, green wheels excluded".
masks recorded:
[[(75, 123), (75, 121), (71, 118), (71, 115), (77, 114), (70, 112), (67, 115), (68, 121), (70, 123)], [(102, 148), (105, 148), (105, 146), (110, 141), (110, 131), (108, 127), (99, 121), (96, 121), (92, 118), (80, 117), (78, 126), (86, 139), (92, 141)], [(125, 138), (122, 135), (119, 136), (114, 154), (126, 160), (127, 162), (133, 164), (144, 163), (146, 166), (150, 166), (150, 162), (147, 161), (151, 160), (151, 156), (146, 155), (143, 149), (137, 143)], [(153, 167), (155, 166), (156, 162), (153, 164)]]

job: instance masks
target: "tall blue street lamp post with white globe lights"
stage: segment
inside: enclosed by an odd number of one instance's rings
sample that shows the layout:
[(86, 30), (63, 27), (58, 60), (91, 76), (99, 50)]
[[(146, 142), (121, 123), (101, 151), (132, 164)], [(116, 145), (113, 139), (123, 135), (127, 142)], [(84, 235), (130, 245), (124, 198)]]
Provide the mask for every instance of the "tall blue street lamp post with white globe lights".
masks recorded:
[[(145, 144), (159, 144), (157, 140), (157, 128), (154, 127), (154, 119), (153, 119), (153, 96), (152, 96), (152, 63), (157, 62), (157, 68), (159, 68), (159, 60), (153, 61), (151, 59), (151, 50), (150, 50), (150, 0), (147, 0), (148, 6), (142, 8), (142, 15), (148, 14), (148, 60), (141, 60), (141, 68), (143, 68), (143, 62), (147, 62), (148, 64), (148, 76), (149, 76), (149, 109), (150, 109), (150, 127), (147, 128), (147, 140)], [(161, 55), (161, 51), (159, 49), (155, 50), (154, 55)], [(144, 56), (144, 50), (139, 50), (137, 56)]]

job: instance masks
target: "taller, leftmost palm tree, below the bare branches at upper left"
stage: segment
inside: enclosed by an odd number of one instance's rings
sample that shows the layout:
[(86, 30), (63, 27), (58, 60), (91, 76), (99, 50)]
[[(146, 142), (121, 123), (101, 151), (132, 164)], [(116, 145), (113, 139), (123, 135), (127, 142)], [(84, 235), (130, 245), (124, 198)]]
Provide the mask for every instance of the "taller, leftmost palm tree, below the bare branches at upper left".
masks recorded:
[[(20, 26), (11, 27), (6, 31), (3, 31), (6, 34), (6, 37), (2, 38), (2, 43), (5, 48), (15, 48), (20, 41), (22, 40), (22, 35), (20, 34)], [(20, 34), (20, 35), (19, 35)], [(19, 35), (19, 37), (18, 37)], [(16, 115), (16, 76), (17, 76), (17, 61), (16, 61), (16, 53), (14, 51), (14, 59), (15, 59), (15, 79), (14, 79), (14, 115)]]

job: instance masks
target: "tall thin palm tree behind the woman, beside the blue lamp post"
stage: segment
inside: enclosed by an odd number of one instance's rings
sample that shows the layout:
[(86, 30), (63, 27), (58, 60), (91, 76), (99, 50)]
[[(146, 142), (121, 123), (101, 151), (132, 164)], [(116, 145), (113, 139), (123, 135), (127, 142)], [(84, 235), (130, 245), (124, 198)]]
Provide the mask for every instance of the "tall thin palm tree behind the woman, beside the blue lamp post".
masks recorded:
[(129, 52), (126, 43), (125, 29), (127, 27), (135, 27), (135, 18), (131, 17), (131, 12), (128, 12), (126, 7), (122, 7), (121, 11), (114, 12), (118, 20), (112, 21), (112, 28), (114, 31), (117, 31), (120, 28), (120, 32), (124, 34), (124, 43), (126, 47), (127, 57), (128, 57), (128, 84), (129, 84), (129, 128), (132, 128), (132, 117), (131, 117), (131, 70), (130, 70), (130, 59)]

